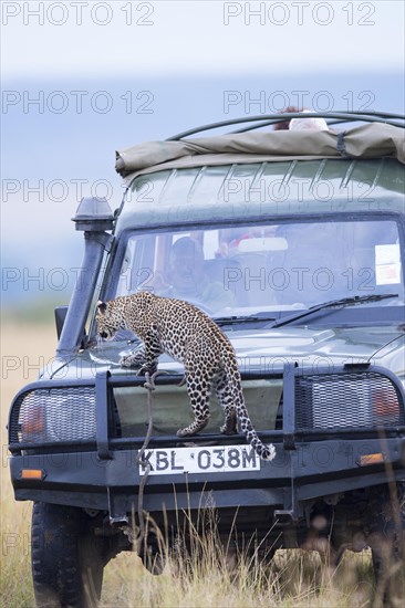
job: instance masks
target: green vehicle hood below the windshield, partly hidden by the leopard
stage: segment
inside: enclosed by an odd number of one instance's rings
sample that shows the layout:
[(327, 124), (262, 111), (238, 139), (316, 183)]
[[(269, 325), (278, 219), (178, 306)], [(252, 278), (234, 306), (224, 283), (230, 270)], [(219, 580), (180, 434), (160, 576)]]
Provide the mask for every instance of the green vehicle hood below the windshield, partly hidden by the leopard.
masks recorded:
[[(226, 327), (237, 354), (241, 370), (281, 368), (287, 363), (299, 366), (342, 366), (372, 363), (405, 376), (405, 335), (401, 328), (350, 327), (350, 328), (255, 328)], [(53, 377), (84, 377), (97, 369), (107, 368), (112, 374), (122, 374), (122, 356), (134, 350), (125, 342), (104, 342), (72, 357), (70, 361), (53, 365)], [(173, 373), (183, 373), (183, 366), (167, 355), (159, 358), (159, 367)], [(49, 374), (45, 376), (50, 377)]]

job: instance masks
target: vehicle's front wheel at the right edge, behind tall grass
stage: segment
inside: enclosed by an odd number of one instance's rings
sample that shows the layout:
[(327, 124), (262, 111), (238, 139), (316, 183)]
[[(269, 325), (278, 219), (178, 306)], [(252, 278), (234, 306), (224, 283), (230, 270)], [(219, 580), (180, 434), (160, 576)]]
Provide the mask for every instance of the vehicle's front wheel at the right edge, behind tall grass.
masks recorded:
[(397, 484), (397, 500), (382, 503), (368, 537), (376, 580), (375, 605), (402, 606), (405, 601), (405, 484)]

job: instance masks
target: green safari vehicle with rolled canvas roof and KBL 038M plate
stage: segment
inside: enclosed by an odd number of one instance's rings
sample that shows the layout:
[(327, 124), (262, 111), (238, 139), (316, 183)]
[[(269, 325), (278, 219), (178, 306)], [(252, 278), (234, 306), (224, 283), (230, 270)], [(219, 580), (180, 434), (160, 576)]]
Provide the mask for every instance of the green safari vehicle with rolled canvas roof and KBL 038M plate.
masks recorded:
[[(82, 200), (84, 259), (56, 311), (56, 358), (9, 420), (15, 499), (34, 503), (39, 605), (92, 605), (121, 551), (159, 572), (212, 512), (229, 549), (326, 547), (338, 563), (370, 546), (381, 585), (401, 573), (404, 117), (323, 116), (326, 130), (273, 130), (298, 117), (280, 114), (135, 146), (117, 154), (127, 188), (115, 213)], [(198, 253), (176, 268), (187, 241)], [(96, 301), (139, 290), (195, 303), (229, 336), (274, 460), (221, 434), (214, 400), (207, 429), (177, 437), (189, 417), (181, 365), (163, 355), (152, 391), (120, 365), (136, 336), (97, 340)]]

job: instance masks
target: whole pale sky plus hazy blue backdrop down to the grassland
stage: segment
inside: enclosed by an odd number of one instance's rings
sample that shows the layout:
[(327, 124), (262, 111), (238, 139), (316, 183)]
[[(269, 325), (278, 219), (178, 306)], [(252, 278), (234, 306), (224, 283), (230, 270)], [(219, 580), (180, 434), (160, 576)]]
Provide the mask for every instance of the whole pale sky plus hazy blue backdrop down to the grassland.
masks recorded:
[[(404, 2), (2, 1), (2, 303), (65, 303), (115, 150), (278, 112), (404, 113)], [(64, 269), (60, 289), (46, 276)], [(61, 276), (59, 274), (58, 276)], [(37, 277), (37, 280), (35, 280)]]

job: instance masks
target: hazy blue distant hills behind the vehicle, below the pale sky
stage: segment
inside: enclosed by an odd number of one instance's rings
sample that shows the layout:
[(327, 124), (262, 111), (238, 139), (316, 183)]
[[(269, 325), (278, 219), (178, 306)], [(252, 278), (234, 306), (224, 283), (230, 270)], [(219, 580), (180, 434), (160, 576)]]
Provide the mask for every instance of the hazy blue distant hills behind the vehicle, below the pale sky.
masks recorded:
[[(131, 87), (120, 78), (94, 78), (91, 86), (80, 80), (42, 81), (35, 88), (14, 82), (7, 88), (13, 104), (2, 128), (3, 307), (22, 296), (66, 300), (83, 251), (82, 234), (71, 222), (80, 199), (105, 196), (115, 209), (124, 192), (115, 149), (211, 122), (279, 112), (299, 101), (319, 111), (404, 113), (401, 76), (334, 75), (329, 88), (320, 74), (139, 78)], [(54, 112), (63, 101), (64, 112)], [(102, 102), (110, 102), (107, 112)]]

